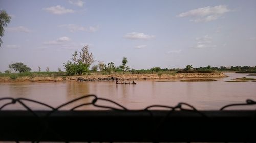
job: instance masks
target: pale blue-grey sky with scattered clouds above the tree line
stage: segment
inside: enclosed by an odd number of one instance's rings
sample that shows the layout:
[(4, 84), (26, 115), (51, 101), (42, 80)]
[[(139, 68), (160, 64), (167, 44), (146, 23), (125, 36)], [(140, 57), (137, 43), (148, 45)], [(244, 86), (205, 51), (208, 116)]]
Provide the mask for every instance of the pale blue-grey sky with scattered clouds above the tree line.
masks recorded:
[(14, 1), (0, 48), (0, 71), (63, 68), (89, 46), (97, 61), (134, 69), (256, 66), (256, 1)]

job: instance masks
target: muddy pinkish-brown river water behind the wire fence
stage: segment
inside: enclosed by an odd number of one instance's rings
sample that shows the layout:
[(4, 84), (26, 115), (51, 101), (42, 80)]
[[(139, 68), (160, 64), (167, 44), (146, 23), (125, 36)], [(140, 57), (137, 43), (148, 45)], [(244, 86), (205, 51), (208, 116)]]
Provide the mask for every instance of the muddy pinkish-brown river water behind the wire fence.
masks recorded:
[[(113, 100), (129, 109), (143, 109), (149, 105), (175, 106), (186, 102), (199, 110), (218, 110), (232, 103), (244, 103), (246, 99), (256, 100), (256, 82), (225, 82), (230, 79), (256, 76), (247, 74), (225, 73), (229, 77), (212, 78), (208, 82), (157, 82), (159, 80), (139, 80), (136, 85), (116, 85), (109, 81), (99, 82), (11, 82), (0, 83), (0, 98), (23, 97), (44, 102), (53, 107), (68, 102), (82, 95), (95, 94), (101, 98)], [(92, 98), (82, 99), (63, 109), (90, 102)], [(0, 101), (0, 106), (7, 101)], [(26, 102), (34, 110), (48, 108)], [(100, 105), (113, 105), (106, 101)], [(114, 106), (115, 107), (115, 106)], [(21, 105), (9, 105), (4, 109), (24, 109)], [(94, 110), (97, 107), (84, 106), (79, 109)], [(156, 108), (161, 109), (161, 108)], [(230, 109), (255, 109), (253, 107), (234, 107)]]

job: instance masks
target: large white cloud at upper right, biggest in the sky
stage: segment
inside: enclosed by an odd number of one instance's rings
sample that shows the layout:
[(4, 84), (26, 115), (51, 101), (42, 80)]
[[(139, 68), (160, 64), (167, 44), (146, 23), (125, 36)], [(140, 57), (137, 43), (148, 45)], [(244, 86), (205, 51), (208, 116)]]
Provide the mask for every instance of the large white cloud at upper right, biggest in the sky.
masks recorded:
[(214, 7), (203, 7), (198, 9), (193, 9), (187, 12), (180, 13), (177, 17), (195, 17), (191, 19), (193, 22), (210, 22), (219, 19), (222, 15), (231, 10), (225, 5), (219, 5)]

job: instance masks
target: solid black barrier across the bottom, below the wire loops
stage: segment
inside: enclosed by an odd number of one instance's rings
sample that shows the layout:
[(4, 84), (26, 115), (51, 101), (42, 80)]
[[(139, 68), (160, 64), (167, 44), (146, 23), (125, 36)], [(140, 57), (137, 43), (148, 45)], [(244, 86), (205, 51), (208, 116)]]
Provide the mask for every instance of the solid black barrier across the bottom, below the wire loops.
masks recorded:
[(2, 141), (256, 142), (255, 111), (0, 111)]

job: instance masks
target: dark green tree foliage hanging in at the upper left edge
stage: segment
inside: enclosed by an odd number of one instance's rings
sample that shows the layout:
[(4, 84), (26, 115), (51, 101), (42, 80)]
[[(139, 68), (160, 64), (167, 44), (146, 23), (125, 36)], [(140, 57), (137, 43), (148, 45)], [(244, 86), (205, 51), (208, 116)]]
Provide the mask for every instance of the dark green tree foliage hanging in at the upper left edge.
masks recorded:
[[(9, 16), (6, 11), (1, 10), (0, 11), (0, 37), (4, 36), (4, 27), (7, 27), (7, 23), (10, 23), (11, 21), (11, 16)], [(0, 38), (0, 47), (1, 47), (1, 43), (3, 44), (4, 42), (2, 41), (2, 39)]]

